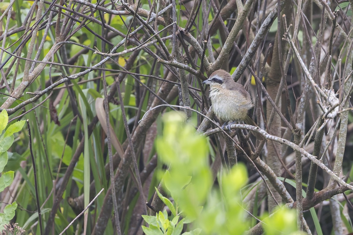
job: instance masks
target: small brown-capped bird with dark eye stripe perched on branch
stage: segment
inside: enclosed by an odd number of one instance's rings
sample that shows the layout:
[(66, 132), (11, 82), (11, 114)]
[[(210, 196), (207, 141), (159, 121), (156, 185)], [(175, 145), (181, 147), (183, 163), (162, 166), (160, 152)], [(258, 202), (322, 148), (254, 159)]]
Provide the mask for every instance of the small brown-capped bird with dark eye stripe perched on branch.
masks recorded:
[[(244, 123), (257, 126), (249, 116), (249, 110), (254, 106), (251, 96), (246, 89), (235, 82), (226, 70), (219, 69), (213, 72), (202, 84), (210, 85), (209, 97), (215, 115), (225, 124), (228, 122), (244, 121)], [(263, 136), (252, 131), (253, 135), (260, 141)]]

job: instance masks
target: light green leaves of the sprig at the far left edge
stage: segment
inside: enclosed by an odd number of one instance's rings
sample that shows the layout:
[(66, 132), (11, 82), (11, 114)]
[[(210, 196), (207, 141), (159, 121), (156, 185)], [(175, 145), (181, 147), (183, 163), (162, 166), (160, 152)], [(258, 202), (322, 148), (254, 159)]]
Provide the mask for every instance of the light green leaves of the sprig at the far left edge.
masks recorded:
[[(0, 192), (2, 192), (6, 187), (10, 186), (13, 181), (14, 171), (6, 171), (8, 155), (12, 156), (12, 153), (7, 153), (7, 150), (11, 147), (14, 136), (13, 134), (20, 131), (25, 123), (24, 120), (15, 122), (6, 128), (8, 122), (8, 115), (6, 110), (0, 113)], [(6, 130), (5, 130), (6, 129)], [(5, 132), (4, 132), (5, 130)], [(13, 162), (12, 162), (13, 163)], [(15, 210), (17, 208), (17, 203), (6, 205), (4, 213), (0, 213), (0, 232), (4, 229), (4, 226), (10, 222), (10, 220), (15, 216)]]

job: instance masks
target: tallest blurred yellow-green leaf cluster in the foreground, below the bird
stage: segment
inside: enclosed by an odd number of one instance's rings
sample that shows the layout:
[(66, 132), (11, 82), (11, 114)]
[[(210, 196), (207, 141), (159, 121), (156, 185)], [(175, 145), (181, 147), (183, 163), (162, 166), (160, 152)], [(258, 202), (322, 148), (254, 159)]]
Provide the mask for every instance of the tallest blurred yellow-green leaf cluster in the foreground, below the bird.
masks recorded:
[(207, 140), (195, 135), (191, 125), (184, 126), (179, 113), (167, 113), (163, 121), (163, 136), (156, 140), (156, 147), (161, 160), (170, 165), (164, 186), (186, 215), (196, 217), (212, 185)]

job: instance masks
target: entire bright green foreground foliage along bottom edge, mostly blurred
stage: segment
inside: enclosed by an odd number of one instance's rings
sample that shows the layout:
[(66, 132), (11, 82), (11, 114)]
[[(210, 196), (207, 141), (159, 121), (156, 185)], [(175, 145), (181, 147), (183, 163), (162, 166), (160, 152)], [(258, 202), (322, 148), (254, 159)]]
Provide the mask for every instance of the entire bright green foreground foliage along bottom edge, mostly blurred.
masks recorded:
[[(170, 218), (164, 210), (155, 216), (143, 215), (149, 227), (142, 226), (147, 235), (182, 232), (183, 224), (193, 222), (196, 228), (186, 234), (244, 234), (250, 220), (242, 205), (241, 190), (247, 183), (246, 167), (234, 166), (219, 175), (219, 187), (211, 188), (212, 174), (208, 163), (206, 138), (195, 134), (195, 129), (184, 123), (183, 115), (166, 113), (163, 135), (156, 140), (158, 156), (169, 166), (162, 183), (173, 197), (175, 205), (156, 188), (158, 197), (168, 206)], [(179, 210), (179, 211), (178, 211)], [(179, 222), (178, 222), (179, 221)], [(266, 234), (297, 232), (294, 210), (280, 207), (264, 219)]]

